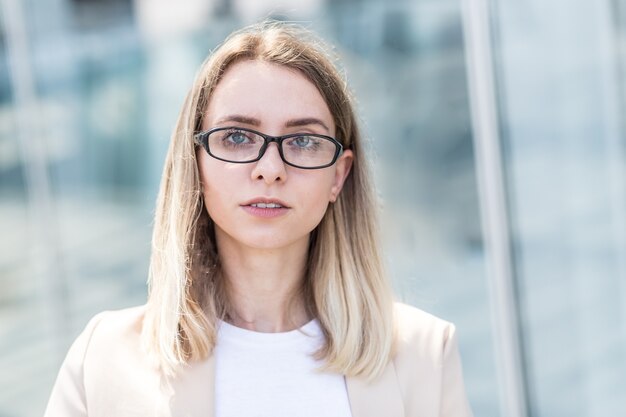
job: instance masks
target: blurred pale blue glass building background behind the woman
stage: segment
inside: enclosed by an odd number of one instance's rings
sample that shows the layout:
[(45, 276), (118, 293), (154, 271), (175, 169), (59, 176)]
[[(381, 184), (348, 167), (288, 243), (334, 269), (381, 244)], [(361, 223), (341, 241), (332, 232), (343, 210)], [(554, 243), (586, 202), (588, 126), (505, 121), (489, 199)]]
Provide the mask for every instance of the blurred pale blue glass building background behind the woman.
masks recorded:
[(475, 415), (626, 415), (626, 0), (2, 0), (0, 417), (144, 302), (183, 97), (264, 17), (342, 56), (398, 297), (457, 324)]

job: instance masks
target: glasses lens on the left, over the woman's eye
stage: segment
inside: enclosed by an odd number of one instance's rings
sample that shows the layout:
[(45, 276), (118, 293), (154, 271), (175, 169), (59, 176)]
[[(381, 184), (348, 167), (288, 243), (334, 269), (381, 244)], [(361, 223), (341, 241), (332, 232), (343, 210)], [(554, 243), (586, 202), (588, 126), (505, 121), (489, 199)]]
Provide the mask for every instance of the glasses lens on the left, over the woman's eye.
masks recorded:
[(232, 162), (255, 160), (264, 143), (263, 137), (238, 129), (215, 131), (208, 140), (211, 155)]

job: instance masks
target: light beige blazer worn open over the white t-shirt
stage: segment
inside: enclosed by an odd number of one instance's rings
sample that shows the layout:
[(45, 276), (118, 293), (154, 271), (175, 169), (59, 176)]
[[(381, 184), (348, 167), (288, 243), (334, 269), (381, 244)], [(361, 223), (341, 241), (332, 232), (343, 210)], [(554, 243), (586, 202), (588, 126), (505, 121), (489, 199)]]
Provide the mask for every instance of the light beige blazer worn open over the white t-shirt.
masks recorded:
[[(454, 325), (403, 304), (396, 312), (398, 352), (383, 374), (346, 378), (352, 416), (471, 417)], [(213, 357), (164, 384), (140, 350), (143, 314), (143, 306), (107, 311), (87, 324), (45, 417), (214, 417)]]

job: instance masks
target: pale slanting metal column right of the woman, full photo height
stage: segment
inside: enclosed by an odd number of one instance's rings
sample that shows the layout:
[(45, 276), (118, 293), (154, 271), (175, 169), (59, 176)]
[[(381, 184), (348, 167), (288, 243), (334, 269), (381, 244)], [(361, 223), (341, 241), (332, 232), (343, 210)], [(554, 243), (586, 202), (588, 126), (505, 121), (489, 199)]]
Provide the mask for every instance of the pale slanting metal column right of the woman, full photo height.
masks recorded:
[(527, 417), (528, 401), (515, 294), (488, 0), (462, 0), (481, 220), (500, 387), (501, 415)]

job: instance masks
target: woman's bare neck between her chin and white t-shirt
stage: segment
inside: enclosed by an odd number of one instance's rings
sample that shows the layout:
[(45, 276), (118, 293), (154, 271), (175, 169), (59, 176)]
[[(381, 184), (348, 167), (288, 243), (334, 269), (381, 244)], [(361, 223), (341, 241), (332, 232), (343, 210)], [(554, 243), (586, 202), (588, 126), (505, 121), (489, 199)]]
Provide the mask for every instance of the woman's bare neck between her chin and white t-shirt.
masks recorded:
[(258, 249), (220, 235), (216, 233), (231, 324), (274, 333), (311, 320), (302, 294), (308, 239), (281, 249)]

